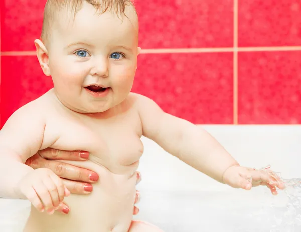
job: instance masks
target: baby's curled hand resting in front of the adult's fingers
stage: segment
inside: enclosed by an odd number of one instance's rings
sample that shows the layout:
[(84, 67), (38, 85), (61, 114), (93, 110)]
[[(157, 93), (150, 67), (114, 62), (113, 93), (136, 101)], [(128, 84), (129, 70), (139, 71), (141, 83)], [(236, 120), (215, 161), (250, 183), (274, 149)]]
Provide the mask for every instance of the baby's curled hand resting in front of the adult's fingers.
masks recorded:
[(17, 191), (25, 196), (40, 212), (53, 214), (70, 192), (60, 177), (47, 168), (38, 168), (28, 173), (17, 186)]

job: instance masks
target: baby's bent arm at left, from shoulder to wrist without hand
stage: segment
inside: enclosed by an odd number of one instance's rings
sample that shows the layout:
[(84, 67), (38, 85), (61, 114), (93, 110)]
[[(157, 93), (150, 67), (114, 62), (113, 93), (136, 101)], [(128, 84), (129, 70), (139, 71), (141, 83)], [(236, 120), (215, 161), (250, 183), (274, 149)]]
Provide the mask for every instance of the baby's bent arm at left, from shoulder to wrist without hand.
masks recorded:
[(0, 131), (0, 197), (24, 198), (14, 189), (33, 170), (24, 163), (40, 149), (46, 123), (37, 107), (34, 102), (21, 107)]

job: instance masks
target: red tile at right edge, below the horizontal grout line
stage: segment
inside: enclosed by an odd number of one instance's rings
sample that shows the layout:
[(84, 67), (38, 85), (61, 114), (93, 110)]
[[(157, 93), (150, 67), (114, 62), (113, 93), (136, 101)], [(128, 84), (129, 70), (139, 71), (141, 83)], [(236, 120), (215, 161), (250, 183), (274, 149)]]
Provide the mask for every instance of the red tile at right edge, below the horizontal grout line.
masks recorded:
[(301, 123), (301, 52), (239, 54), (240, 124)]

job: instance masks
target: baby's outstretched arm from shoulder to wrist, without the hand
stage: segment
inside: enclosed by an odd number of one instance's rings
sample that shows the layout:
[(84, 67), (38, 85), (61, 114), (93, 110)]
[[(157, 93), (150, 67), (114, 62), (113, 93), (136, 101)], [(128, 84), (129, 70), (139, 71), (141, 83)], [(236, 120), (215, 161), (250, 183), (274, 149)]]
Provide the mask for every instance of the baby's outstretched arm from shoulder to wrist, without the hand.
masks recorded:
[(238, 163), (202, 128), (163, 112), (152, 100), (135, 95), (143, 135), (211, 178), (223, 182), (224, 172)]

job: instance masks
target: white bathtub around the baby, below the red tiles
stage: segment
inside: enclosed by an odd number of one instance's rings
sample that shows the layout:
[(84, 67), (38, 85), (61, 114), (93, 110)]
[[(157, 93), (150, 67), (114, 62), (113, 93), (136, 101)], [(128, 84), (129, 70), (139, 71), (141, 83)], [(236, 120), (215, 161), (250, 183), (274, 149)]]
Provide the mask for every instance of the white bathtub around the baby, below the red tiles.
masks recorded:
[[(301, 177), (301, 126), (204, 126), (241, 165), (260, 168), (268, 164), (285, 179)], [(135, 219), (166, 232), (300, 232), (297, 223), (276, 230), (287, 211), (284, 192), (272, 196), (265, 187), (251, 191), (217, 183), (143, 138), (145, 153), (139, 171), (142, 181)], [(0, 231), (19, 232), (29, 213), (27, 201), (0, 199)], [(283, 223), (282, 223), (283, 225)], [(273, 227), (274, 226), (274, 227)]]

